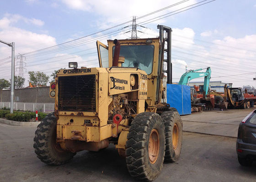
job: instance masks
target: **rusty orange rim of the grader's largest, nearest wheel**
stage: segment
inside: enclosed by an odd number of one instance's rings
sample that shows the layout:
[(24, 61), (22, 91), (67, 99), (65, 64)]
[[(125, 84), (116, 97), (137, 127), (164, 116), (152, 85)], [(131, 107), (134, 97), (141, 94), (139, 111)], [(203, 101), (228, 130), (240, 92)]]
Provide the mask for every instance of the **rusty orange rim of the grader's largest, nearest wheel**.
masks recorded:
[(149, 161), (151, 164), (154, 164), (157, 160), (159, 154), (159, 134), (156, 129), (153, 129), (149, 136)]

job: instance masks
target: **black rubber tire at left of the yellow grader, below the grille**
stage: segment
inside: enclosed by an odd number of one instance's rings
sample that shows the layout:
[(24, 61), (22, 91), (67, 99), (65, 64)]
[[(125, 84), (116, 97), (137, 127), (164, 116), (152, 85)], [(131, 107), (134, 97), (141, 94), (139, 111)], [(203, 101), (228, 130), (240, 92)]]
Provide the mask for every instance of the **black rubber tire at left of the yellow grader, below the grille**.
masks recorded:
[(61, 165), (69, 162), (76, 153), (64, 151), (56, 144), (57, 119), (48, 114), (37, 126), (34, 137), (34, 149), (37, 157), (48, 165)]

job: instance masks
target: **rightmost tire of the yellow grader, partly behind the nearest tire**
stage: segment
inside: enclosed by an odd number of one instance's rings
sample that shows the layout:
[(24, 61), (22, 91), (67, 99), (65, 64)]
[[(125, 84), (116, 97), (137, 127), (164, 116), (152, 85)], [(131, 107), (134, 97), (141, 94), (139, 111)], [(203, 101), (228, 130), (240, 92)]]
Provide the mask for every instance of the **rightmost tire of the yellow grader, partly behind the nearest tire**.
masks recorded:
[[(181, 154), (182, 147), (182, 121), (177, 111), (165, 111), (161, 114), (165, 125), (165, 162), (176, 162)], [(178, 128), (178, 143), (176, 149), (172, 143), (173, 127)]]

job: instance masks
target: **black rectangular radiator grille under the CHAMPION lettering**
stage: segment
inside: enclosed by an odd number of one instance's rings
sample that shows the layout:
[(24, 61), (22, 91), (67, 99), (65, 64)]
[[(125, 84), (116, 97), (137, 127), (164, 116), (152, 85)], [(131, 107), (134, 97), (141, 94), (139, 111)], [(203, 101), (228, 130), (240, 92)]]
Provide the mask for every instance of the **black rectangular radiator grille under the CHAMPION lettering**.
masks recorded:
[(95, 75), (59, 76), (59, 111), (96, 111)]

